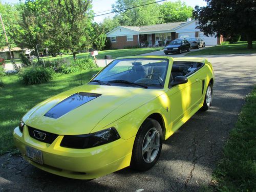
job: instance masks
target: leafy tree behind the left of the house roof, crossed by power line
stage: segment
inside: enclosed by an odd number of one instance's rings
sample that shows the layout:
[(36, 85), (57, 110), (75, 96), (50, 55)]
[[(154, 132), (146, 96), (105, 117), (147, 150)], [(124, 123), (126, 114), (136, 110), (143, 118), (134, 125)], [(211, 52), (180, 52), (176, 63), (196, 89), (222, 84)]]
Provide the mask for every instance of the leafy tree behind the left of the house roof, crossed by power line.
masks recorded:
[[(151, 2), (145, 0), (117, 0), (112, 5), (112, 9), (117, 11), (153, 2), (155, 0)], [(159, 4), (150, 4), (117, 12), (114, 18), (118, 19), (118, 23), (121, 26), (146, 26), (161, 23), (159, 13)]]

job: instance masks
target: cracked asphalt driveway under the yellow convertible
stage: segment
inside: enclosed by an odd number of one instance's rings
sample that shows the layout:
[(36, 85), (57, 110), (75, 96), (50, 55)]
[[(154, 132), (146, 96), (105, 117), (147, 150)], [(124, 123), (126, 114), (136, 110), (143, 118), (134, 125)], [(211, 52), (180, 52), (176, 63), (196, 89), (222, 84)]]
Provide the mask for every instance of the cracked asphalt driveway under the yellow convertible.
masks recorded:
[(198, 112), (164, 141), (158, 163), (147, 172), (125, 168), (98, 179), (62, 178), (19, 156), (0, 156), (3, 191), (198, 191), (211, 182), (229, 131), (256, 82), (256, 54), (207, 56), (215, 69), (212, 109)]

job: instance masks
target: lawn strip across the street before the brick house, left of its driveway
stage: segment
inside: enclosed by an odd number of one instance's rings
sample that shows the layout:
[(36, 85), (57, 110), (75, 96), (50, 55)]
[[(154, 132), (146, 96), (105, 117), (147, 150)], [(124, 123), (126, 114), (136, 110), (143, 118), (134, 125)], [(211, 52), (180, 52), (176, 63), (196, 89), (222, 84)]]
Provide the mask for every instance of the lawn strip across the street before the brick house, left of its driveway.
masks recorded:
[[(117, 58), (117, 57), (124, 57), (124, 56), (135, 56), (135, 55), (140, 55), (140, 54), (144, 54), (144, 53), (150, 53), (153, 51), (159, 51), (163, 48), (139, 48), (139, 49), (118, 49), (118, 50), (106, 50), (106, 51), (99, 51), (98, 55), (96, 56), (97, 59), (104, 59), (105, 55), (111, 55), (112, 58)], [(83, 57), (88, 57), (90, 55), (90, 53), (79, 53), (76, 54), (77, 58), (83, 58)], [(66, 58), (66, 59), (73, 59), (73, 55), (72, 54), (66, 54), (66, 55), (62, 55), (62, 56), (56, 56), (56, 57), (51, 57), (51, 56), (47, 56), (47, 57), (41, 57), (45, 60), (55, 60), (55, 59), (60, 59), (60, 58)], [(37, 58), (34, 58), (34, 60), (36, 60)], [(20, 62), (20, 59), (14, 59), (16, 63)], [(11, 63), (11, 60), (6, 60), (6, 63)]]

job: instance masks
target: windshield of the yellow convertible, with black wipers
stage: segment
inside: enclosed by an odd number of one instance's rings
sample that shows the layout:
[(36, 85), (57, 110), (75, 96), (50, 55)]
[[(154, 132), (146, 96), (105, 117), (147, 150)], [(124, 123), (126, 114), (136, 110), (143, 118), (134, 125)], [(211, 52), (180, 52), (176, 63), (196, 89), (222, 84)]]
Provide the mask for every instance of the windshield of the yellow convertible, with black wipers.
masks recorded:
[(116, 59), (106, 66), (89, 83), (98, 83), (105, 86), (159, 89), (164, 86), (167, 68), (167, 59)]

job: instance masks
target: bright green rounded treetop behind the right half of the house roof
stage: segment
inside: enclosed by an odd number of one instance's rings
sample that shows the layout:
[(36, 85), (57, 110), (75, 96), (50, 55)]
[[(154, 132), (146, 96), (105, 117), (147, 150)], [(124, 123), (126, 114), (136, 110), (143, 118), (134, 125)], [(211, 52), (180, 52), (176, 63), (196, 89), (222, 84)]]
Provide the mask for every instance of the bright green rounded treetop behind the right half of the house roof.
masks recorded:
[(160, 14), (163, 23), (184, 22), (192, 17), (193, 7), (187, 6), (184, 2), (164, 2), (160, 5)]

